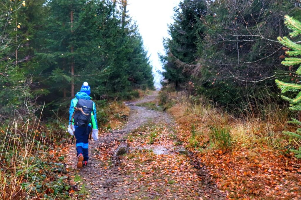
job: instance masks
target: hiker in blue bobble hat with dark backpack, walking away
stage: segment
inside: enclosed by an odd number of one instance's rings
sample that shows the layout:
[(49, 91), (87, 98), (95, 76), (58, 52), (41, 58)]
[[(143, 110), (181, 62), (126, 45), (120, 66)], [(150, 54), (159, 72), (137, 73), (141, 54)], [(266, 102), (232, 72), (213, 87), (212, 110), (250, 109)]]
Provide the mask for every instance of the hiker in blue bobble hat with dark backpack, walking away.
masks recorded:
[(68, 132), (72, 136), (75, 135), (77, 168), (88, 166), (88, 139), (91, 129), (92, 138), (98, 140), (96, 107), (91, 100), (90, 93), (90, 86), (87, 82), (84, 82), (80, 91), (76, 93), (75, 98), (71, 100), (69, 109)]

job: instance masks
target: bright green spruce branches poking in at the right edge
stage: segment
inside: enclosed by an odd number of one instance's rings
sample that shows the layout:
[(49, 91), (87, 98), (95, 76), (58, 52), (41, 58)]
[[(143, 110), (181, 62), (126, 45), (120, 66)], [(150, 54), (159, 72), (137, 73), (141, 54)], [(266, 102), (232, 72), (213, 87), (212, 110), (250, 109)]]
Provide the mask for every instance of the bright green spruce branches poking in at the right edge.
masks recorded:
[[(285, 16), (285, 25), (288, 29), (292, 30), (290, 32), (290, 37), (296, 37), (301, 35), (301, 22), (298, 20), (293, 19), (293, 17)], [(296, 42), (291, 41), (287, 37), (278, 37), (279, 42), (284, 45), (285, 47), (289, 48), (286, 52), (288, 56), (285, 58), (284, 61), (282, 61), (282, 64), (285, 66), (293, 66), (293, 65), (299, 65), (299, 67), (296, 70), (297, 75), (301, 75), (301, 58), (298, 56), (301, 56), (301, 44), (297, 44)], [(290, 110), (292, 111), (301, 111), (301, 84), (298, 83), (285, 83), (280, 80), (275, 80), (276, 84), (279, 89), (281, 89), (281, 93), (285, 92), (293, 92), (297, 93), (295, 98), (289, 98), (287, 96), (282, 95), (281, 97), (284, 98), (286, 101), (290, 102)], [(299, 126), (301, 126), (301, 122), (299, 120), (296, 120), (292, 118), (292, 121), (289, 121), (290, 123), (295, 123)], [(301, 139), (301, 128), (298, 128), (296, 130), (296, 133), (284, 131), (283, 132), (286, 135), (296, 137), (298, 139)], [(290, 150), (294, 153), (296, 153), (297, 158), (301, 158), (301, 147), (299, 150)]]

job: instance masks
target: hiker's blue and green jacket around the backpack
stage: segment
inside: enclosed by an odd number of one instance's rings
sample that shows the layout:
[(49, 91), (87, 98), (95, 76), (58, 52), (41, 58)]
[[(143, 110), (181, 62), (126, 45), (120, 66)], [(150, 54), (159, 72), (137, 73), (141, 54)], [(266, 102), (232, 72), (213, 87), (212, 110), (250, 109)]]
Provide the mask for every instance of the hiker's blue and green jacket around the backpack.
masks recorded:
[[(76, 107), (76, 104), (79, 99), (91, 100), (91, 97), (89, 95), (87, 95), (87, 93), (85, 93), (85, 92), (77, 92), (76, 93), (75, 98), (73, 98), (70, 103), (69, 124), (71, 124), (71, 117), (74, 112), (74, 107)], [(98, 129), (97, 119), (96, 119), (96, 106), (95, 106), (94, 102), (93, 102), (93, 112), (91, 112), (91, 121), (92, 121), (92, 128)], [(89, 123), (89, 126), (91, 126), (91, 123)]]

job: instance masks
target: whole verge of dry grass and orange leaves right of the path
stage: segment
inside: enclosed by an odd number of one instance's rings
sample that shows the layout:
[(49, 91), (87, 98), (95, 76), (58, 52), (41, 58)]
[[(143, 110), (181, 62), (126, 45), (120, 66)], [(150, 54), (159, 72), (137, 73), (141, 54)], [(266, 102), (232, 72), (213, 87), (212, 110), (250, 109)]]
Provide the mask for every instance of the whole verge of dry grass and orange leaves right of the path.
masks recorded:
[(300, 197), (301, 163), (290, 150), (299, 149), (301, 141), (282, 133), (296, 129), (287, 123), (293, 115), (288, 110), (266, 104), (233, 115), (206, 98), (185, 92), (164, 89), (160, 98), (179, 125), (175, 143), (207, 166), (228, 198)]

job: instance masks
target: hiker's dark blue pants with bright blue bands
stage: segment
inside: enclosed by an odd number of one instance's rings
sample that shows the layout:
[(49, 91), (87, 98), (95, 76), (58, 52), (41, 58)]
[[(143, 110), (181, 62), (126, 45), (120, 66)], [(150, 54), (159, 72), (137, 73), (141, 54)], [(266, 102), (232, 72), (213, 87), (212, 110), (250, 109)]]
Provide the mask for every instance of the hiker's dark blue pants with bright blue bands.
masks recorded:
[(77, 156), (81, 153), (84, 156), (84, 161), (88, 161), (88, 139), (91, 131), (91, 126), (75, 126), (74, 128)]

